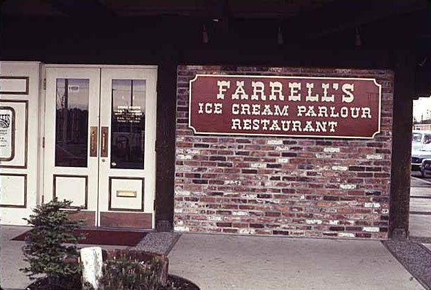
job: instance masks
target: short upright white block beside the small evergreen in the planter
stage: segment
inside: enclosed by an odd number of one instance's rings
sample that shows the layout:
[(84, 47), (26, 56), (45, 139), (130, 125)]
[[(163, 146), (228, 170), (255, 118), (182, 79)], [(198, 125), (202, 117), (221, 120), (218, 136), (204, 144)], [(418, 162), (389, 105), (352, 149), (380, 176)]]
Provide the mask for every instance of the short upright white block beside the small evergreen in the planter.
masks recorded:
[(82, 283), (90, 283), (94, 289), (99, 289), (99, 279), (102, 277), (101, 247), (86, 247), (81, 249)]

